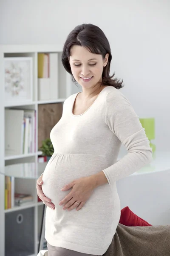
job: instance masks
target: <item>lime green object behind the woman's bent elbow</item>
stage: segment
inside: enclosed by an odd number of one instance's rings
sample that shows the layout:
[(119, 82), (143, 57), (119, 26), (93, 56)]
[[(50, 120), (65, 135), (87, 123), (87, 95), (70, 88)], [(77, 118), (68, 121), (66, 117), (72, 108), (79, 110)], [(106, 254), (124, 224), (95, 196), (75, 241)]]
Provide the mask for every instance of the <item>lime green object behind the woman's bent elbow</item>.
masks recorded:
[(156, 145), (151, 143), (151, 140), (155, 139), (155, 119), (154, 118), (139, 118), (142, 127), (145, 129), (146, 136), (150, 141), (150, 147), (153, 153), (156, 151)]

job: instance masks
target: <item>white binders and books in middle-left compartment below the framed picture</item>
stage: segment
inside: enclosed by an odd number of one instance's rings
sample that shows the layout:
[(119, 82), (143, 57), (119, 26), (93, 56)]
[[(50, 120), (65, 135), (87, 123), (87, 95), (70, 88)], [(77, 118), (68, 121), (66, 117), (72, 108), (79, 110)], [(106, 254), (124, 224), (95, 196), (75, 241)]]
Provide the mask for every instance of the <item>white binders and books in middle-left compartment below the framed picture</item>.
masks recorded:
[(5, 110), (6, 156), (28, 154), (36, 151), (36, 111), (21, 109)]

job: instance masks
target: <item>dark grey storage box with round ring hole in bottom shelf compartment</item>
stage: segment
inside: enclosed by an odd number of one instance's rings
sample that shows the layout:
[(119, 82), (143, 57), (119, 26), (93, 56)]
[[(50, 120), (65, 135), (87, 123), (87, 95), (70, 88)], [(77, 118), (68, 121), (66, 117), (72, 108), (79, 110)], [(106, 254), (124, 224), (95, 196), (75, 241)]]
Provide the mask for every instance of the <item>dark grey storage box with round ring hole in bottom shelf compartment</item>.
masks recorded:
[(7, 212), (5, 216), (5, 256), (34, 254), (34, 207)]

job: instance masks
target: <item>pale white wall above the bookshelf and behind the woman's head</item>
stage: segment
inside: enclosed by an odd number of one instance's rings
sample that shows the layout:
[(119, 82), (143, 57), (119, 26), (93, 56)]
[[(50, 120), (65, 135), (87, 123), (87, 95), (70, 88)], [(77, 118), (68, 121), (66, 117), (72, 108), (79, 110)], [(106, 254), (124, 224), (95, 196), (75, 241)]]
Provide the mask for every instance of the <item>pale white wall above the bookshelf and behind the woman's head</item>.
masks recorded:
[(111, 72), (139, 117), (156, 118), (156, 145), (170, 142), (169, 0), (1, 0), (0, 44), (63, 44), (78, 24), (94, 23), (108, 37)]

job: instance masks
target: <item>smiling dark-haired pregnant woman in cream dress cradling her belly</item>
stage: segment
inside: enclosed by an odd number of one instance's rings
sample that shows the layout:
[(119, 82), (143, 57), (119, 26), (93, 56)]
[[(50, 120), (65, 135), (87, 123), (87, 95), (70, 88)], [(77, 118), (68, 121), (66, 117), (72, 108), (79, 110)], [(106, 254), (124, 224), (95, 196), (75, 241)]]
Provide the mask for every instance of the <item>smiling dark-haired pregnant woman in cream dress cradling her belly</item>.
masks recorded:
[[(48, 256), (102, 256), (120, 218), (116, 181), (152, 160), (122, 81), (109, 75), (111, 59), (105, 34), (92, 24), (77, 26), (65, 41), (62, 64), (82, 92), (65, 100), (50, 134), (54, 154), (37, 180), (47, 205)], [(128, 152), (117, 161), (122, 143)]]

